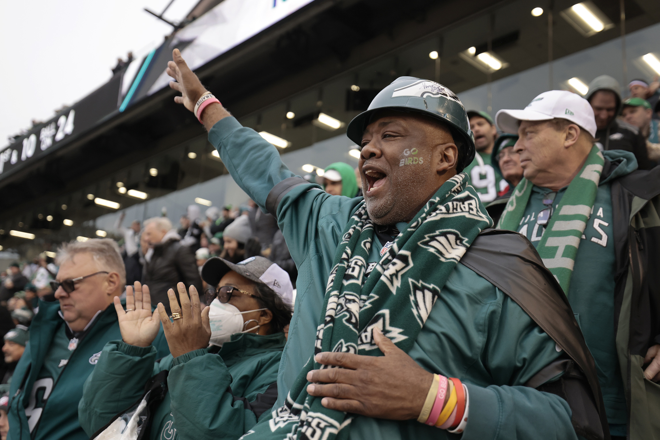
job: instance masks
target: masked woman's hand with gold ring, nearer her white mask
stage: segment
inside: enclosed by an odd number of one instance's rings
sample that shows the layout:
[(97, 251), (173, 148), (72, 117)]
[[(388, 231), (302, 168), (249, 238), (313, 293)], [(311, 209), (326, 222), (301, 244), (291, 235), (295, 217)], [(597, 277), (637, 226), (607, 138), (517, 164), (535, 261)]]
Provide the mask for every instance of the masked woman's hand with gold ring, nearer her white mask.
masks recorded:
[(170, 353), (175, 358), (200, 348), (207, 348), (209, 340), (211, 340), (209, 307), (204, 307), (203, 311), (199, 311), (199, 294), (197, 294), (195, 286), (190, 286), (190, 298), (188, 298), (182, 282), (177, 284), (176, 288), (179, 291), (181, 307), (176, 300), (174, 290), (168, 290), (167, 295), (170, 299), (172, 316), (177, 316), (175, 313), (178, 313), (180, 318), (170, 321), (165, 307), (162, 303), (158, 303), (158, 314), (163, 324), (167, 344), (170, 347)]

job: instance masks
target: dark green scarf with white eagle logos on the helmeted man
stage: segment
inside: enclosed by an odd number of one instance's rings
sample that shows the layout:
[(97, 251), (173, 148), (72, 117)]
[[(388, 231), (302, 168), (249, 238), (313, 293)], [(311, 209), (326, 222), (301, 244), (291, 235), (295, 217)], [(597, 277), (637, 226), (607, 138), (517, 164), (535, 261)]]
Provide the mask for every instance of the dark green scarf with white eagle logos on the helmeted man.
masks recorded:
[[(479, 233), (492, 220), (479, 195), (460, 173), (444, 183), (402, 231), (376, 268), (365, 277), (374, 241), (374, 224), (362, 204), (347, 224), (337, 247), (325, 290), (325, 315), (316, 330), (314, 354), (348, 352), (382, 356), (372, 330), (380, 329), (408, 352), (424, 326), (449, 274)], [(329, 410), (310, 396), (307, 373), (329, 368), (310, 358), (294, 382), (284, 406), (267, 423), (242, 438), (347, 438), (352, 416)]]

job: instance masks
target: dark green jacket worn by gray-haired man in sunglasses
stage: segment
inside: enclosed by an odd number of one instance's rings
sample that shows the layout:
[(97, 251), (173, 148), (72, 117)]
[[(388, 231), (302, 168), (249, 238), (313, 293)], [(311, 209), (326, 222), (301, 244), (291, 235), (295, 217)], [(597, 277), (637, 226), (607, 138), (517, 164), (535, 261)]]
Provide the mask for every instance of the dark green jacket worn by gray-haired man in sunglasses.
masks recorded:
[[(122, 301), (124, 304), (125, 301)], [(88, 439), (78, 422), (78, 402), (82, 384), (94, 369), (106, 342), (121, 338), (114, 305), (110, 304), (73, 350), (69, 361), (61, 367), (57, 380), (36, 379), (44, 365), (55, 332), (65, 325), (59, 316), (59, 301), (39, 301), (37, 313), (30, 325), (30, 341), (16, 365), (9, 391), (9, 438), (12, 440)], [(170, 352), (162, 327), (154, 340), (159, 356)], [(39, 420), (30, 433), (26, 408), (42, 408), (32, 412)], [(33, 422), (34, 423), (34, 422)]]

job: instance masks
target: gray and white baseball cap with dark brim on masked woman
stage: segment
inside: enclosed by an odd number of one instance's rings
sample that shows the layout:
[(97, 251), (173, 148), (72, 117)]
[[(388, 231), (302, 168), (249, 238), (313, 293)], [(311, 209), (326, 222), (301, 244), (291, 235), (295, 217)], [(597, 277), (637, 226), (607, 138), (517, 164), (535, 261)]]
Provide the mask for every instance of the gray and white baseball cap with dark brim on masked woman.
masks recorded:
[(217, 286), (230, 270), (259, 284), (265, 284), (278, 294), (284, 303), (293, 304), (293, 286), (286, 270), (264, 257), (249, 257), (240, 263), (230, 263), (220, 257), (210, 258), (202, 266), (202, 279)]

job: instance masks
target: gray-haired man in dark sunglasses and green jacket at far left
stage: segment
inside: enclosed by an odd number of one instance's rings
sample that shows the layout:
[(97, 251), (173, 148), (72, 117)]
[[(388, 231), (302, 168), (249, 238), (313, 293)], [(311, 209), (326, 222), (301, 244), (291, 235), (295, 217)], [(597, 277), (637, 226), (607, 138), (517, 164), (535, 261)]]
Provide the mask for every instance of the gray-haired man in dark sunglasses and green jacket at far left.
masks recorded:
[[(64, 243), (57, 264), (51, 282), (57, 301), (39, 301), (11, 381), (11, 439), (88, 439), (78, 421), (82, 385), (106, 342), (121, 338), (112, 303), (124, 290), (126, 272), (117, 244)], [(154, 346), (158, 357), (169, 353), (162, 329)]]

